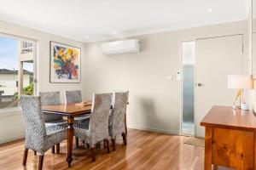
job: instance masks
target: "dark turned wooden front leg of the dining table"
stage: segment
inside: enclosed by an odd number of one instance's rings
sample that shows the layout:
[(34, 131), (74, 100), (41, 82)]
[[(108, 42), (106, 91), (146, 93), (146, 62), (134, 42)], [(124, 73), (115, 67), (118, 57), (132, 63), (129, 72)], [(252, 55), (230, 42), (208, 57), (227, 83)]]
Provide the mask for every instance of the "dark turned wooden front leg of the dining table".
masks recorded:
[(71, 166), (71, 161), (73, 161), (72, 151), (73, 151), (73, 116), (67, 117), (67, 163), (68, 167)]

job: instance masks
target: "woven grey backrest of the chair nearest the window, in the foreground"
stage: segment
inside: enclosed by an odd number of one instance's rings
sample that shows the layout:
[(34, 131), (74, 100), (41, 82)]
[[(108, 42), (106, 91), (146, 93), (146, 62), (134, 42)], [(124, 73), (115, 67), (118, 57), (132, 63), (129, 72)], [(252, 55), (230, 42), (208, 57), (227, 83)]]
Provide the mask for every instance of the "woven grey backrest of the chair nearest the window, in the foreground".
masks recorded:
[(46, 129), (40, 97), (21, 95), (20, 105), (26, 128), (26, 148), (43, 150)]

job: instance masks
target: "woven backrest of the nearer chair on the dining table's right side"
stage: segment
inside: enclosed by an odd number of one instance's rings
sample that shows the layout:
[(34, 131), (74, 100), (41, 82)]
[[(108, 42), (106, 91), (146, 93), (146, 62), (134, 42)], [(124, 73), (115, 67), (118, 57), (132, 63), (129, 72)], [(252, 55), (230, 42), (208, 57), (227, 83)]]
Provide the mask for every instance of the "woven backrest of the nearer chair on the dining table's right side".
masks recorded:
[(111, 109), (112, 94), (93, 94), (90, 114), (90, 144), (95, 145), (108, 139), (108, 114)]

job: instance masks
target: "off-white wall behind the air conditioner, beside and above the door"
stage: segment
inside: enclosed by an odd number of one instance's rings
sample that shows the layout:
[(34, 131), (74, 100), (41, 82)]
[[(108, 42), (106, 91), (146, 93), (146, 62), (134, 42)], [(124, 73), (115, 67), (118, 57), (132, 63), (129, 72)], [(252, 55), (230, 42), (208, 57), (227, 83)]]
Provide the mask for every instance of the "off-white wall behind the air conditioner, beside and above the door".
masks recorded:
[[(181, 70), (181, 42), (238, 33), (244, 34), (247, 48), (247, 21), (130, 37), (140, 41), (139, 54), (107, 56), (101, 52), (101, 42), (89, 43), (85, 51), (83, 78), (88, 83), (84, 95), (90, 98), (95, 92), (129, 89), (128, 127), (179, 133), (181, 82), (175, 78)], [(245, 53), (245, 72), (247, 63)], [(170, 76), (174, 80), (166, 79)]]

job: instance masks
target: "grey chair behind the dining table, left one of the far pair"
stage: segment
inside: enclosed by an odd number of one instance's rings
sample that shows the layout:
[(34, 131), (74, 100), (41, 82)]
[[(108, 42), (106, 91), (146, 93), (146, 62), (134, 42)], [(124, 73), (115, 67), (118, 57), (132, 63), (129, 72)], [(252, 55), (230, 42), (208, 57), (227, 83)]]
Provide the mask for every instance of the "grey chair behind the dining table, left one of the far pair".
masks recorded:
[[(61, 104), (60, 92), (39, 92), (39, 96), (41, 97), (42, 105)], [(46, 127), (67, 124), (67, 121), (64, 121), (62, 116), (53, 115), (49, 113), (44, 113), (44, 121)]]

